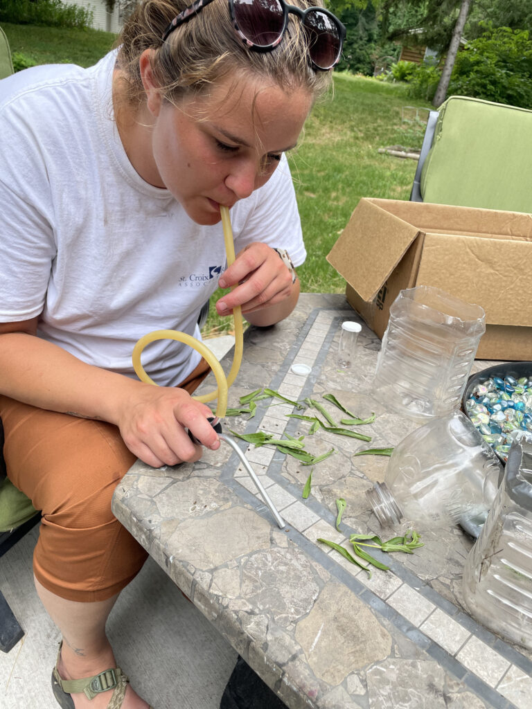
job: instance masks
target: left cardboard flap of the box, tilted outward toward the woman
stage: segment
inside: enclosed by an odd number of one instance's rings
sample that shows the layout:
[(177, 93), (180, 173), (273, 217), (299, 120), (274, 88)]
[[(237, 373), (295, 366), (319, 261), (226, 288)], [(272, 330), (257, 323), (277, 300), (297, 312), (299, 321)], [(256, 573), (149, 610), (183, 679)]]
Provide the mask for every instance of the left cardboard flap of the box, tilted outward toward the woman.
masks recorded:
[(420, 234), (415, 226), (362, 197), (326, 258), (365, 301), (372, 301)]

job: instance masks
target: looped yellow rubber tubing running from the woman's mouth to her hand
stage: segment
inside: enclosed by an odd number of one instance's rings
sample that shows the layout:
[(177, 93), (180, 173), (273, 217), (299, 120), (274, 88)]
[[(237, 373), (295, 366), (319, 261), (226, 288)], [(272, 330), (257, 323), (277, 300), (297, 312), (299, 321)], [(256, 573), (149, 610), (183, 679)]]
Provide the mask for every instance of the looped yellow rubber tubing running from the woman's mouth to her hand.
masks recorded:
[[(235, 245), (233, 242), (233, 229), (231, 228), (231, 220), (229, 218), (229, 210), (227, 207), (220, 207), (222, 227), (223, 227), (223, 239), (226, 246), (226, 256), (227, 264), (231, 264), (235, 260)], [(233, 290), (236, 286), (232, 286)], [(177, 342), (183, 342), (184, 345), (189, 345), (196, 352), (201, 354), (201, 357), (206, 359), (206, 362), (211, 367), (214, 376), (216, 378), (216, 384), (218, 389), (211, 391), (201, 396), (194, 396), (197, 401), (205, 403), (206, 401), (213, 401), (218, 398), (216, 406), (216, 416), (218, 418), (223, 418), (226, 415), (227, 410), (227, 393), (228, 389), (235, 381), (240, 369), (240, 364), (242, 362), (242, 354), (244, 347), (243, 340), (243, 323), (242, 323), (242, 311), (240, 306), (233, 308), (233, 323), (235, 328), (235, 352), (233, 354), (233, 364), (231, 366), (231, 371), (229, 372), (227, 378), (223, 372), (220, 362), (216, 359), (216, 355), (209, 350), (204, 342), (196, 340), (196, 337), (192, 335), (187, 335), (187, 333), (179, 333), (177, 330), (154, 330), (153, 333), (148, 333), (144, 337), (140, 337), (140, 340), (133, 347), (133, 369), (135, 369), (135, 374), (138, 376), (140, 381), (144, 381), (146, 384), (153, 384), (157, 386), (157, 383), (151, 379), (148, 374), (146, 374), (144, 367), (140, 362), (140, 354), (142, 354), (144, 348), (150, 344), (150, 342), (155, 342), (155, 340), (177, 340)]]

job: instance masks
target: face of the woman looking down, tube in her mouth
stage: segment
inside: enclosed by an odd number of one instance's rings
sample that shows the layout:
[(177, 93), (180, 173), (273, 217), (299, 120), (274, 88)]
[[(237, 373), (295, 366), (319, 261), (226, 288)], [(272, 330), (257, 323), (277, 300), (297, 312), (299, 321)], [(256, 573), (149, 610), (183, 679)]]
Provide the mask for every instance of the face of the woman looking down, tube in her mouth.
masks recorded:
[(295, 147), (312, 98), (267, 80), (225, 79), (209, 94), (174, 106), (148, 93), (152, 116), (150, 182), (166, 187), (198, 224), (216, 224), (270, 179)]

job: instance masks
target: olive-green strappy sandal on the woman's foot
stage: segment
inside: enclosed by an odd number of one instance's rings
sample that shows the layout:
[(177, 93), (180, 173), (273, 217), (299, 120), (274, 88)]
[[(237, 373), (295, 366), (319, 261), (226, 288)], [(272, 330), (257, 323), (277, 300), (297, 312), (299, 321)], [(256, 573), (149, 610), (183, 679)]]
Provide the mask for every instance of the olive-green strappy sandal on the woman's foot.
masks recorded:
[[(107, 709), (120, 709), (126, 696), (126, 686), (129, 682), (128, 676), (123, 673), (120, 667), (106, 669), (92, 677), (84, 677), (84, 679), (61, 679), (59, 671), (57, 671), (57, 665), (61, 657), (61, 647), (62, 642), (59, 645), (57, 661), (52, 670), (52, 691), (60, 707), (62, 709), (75, 709), (71, 694), (83, 692), (87, 698), (92, 700), (96, 694), (114, 688)], [(149, 709), (153, 709), (153, 707), (150, 706)]]

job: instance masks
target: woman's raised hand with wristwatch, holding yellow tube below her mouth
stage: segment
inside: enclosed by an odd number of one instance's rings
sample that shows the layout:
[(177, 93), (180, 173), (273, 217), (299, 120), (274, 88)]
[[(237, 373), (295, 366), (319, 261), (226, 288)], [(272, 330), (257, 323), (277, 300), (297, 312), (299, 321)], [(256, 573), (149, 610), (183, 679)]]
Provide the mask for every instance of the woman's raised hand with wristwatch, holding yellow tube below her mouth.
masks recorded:
[[(231, 315), (233, 308), (240, 306), (246, 319), (256, 325), (272, 325), (285, 318), (299, 296), (299, 282), (292, 283), (292, 272), (287, 265), (276, 251), (260, 242), (240, 251), (218, 284), (221, 288), (237, 286), (216, 303), (218, 315)], [(269, 316), (252, 315), (267, 309), (271, 310)]]

